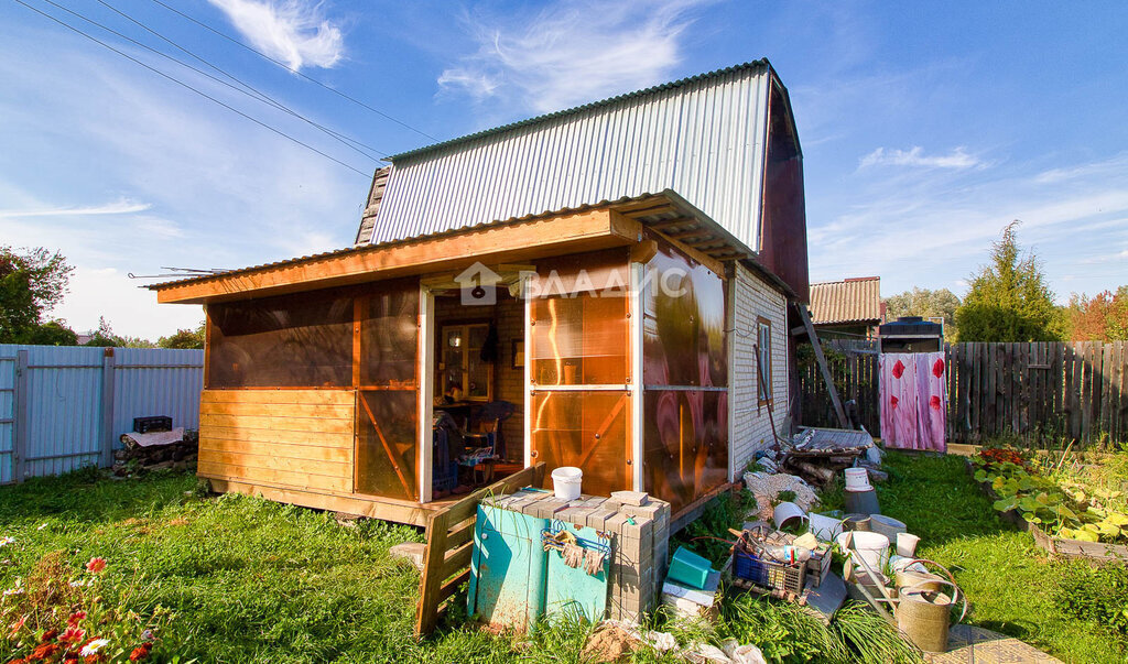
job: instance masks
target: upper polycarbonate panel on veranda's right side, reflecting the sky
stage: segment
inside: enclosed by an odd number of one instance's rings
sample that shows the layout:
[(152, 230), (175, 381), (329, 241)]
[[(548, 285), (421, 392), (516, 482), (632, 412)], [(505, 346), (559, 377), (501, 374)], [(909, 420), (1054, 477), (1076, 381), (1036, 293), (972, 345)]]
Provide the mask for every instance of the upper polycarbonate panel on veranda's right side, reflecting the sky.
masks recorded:
[(726, 387), (724, 281), (677, 249), (646, 264), (643, 373), (647, 386)]

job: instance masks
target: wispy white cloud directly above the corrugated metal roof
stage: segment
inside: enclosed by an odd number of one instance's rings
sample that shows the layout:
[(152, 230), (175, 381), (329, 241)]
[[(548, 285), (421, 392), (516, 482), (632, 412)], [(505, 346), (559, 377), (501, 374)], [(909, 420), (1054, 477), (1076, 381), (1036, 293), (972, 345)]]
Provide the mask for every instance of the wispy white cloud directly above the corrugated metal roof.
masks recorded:
[(702, 0), (557, 1), (536, 16), (469, 19), (478, 51), (447, 68), (442, 90), (558, 110), (669, 78)]

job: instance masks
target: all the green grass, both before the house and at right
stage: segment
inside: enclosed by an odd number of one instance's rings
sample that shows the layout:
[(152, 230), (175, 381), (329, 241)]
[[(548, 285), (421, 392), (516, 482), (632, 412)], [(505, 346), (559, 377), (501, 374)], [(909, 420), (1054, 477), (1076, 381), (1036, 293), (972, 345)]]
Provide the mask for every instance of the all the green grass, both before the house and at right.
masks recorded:
[[(1058, 611), (1054, 594), (1064, 572), (1029, 535), (996, 519), (962, 463), (890, 454), (892, 478), (879, 492), (884, 512), (924, 538), (922, 554), (949, 566), (967, 588), (971, 621), (1069, 662), (1123, 661), (1113, 639)], [(411, 632), (418, 574), (388, 555), (395, 543), (420, 540), (416, 529), (374, 521), (343, 525), (312, 510), (209, 497), (197, 486), (188, 475), (114, 481), (79, 472), (0, 487), (0, 538), (14, 540), (0, 548), (0, 590), (21, 584), (30, 591), (44, 578), (91, 578), (83, 564), (94, 557), (107, 563), (95, 586), (79, 588), (89, 591), (81, 602), (28, 592), (0, 599), (0, 616), (12, 602), (35, 599), (65, 607), (54, 617), (65, 621), (67, 612), (97, 596), (113, 611), (88, 619), (90, 631), (112, 631), (98, 636), (112, 637), (127, 655), (152, 629), (151, 659), (158, 662), (580, 661), (588, 626), (562, 622), (528, 640), (493, 636), (461, 621), (459, 607), (456, 620), (416, 643)], [(838, 498), (831, 492), (827, 502), (834, 506)], [(721, 511), (717, 517), (738, 515)], [(0, 662), (12, 647), (5, 640), (10, 618), (0, 625)], [(863, 634), (866, 643), (889, 636), (856, 609), (828, 630), (788, 604), (748, 595), (728, 597), (722, 619), (708, 630), (655, 620), (681, 644), (732, 636), (756, 643), (776, 662), (873, 659), (861, 656), (851, 635)], [(879, 659), (914, 659), (883, 643), (875, 652), (893, 654)], [(644, 652), (633, 661), (675, 659)]]

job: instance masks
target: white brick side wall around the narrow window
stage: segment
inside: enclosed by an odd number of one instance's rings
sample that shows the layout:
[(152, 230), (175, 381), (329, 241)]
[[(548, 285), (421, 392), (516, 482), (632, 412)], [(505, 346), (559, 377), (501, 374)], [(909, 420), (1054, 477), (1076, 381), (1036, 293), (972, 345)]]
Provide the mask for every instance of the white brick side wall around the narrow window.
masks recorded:
[(776, 433), (787, 431), (787, 306), (785, 296), (768, 285), (756, 273), (737, 264), (735, 274), (730, 280), (730, 307), (733, 333), (729, 335), (732, 345), (730, 365), (730, 417), (732, 418), (731, 469), (739, 478), (744, 466), (757, 450), (773, 442), (772, 424), (767, 406), (760, 406), (756, 375), (756, 320), (758, 317), (772, 324), (772, 417)]

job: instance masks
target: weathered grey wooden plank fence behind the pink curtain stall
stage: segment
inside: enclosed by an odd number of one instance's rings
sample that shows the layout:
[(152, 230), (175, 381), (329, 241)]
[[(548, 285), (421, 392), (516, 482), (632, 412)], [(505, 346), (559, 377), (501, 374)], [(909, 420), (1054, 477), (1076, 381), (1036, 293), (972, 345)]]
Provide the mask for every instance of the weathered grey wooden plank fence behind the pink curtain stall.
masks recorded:
[[(823, 343), (844, 401), (881, 431), (878, 355), (851, 342)], [(948, 440), (1016, 436), (1032, 446), (1063, 441), (1128, 442), (1128, 342), (948, 344)], [(800, 365), (801, 420), (837, 426), (818, 366)]]

